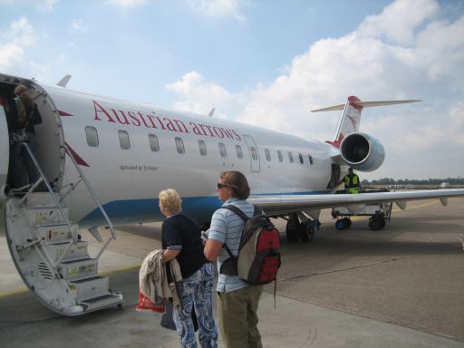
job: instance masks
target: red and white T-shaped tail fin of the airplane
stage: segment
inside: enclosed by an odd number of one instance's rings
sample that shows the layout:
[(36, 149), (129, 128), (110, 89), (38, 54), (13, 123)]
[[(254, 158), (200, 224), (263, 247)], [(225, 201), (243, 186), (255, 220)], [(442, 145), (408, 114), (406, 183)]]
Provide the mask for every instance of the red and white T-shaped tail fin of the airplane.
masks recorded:
[(361, 122), (361, 111), (363, 108), (369, 108), (372, 106), (382, 106), (382, 105), (394, 105), (394, 104), (404, 104), (407, 102), (421, 102), (420, 100), (407, 100), (407, 101), (384, 101), (384, 102), (362, 102), (358, 97), (350, 96), (348, 97), (346, 103), (333, 105), (328, 108), (317, 109), (311, 112), (318, 111), (335, 111), (343, 110), (342, 118), (338, 125), (337, 132), (335, 134), (335, 139), (333, 141), (327, 141), (333, 146), (339, 148), (340, 143), (343, 138), (355, 131), (359, 131), (359, 124)]

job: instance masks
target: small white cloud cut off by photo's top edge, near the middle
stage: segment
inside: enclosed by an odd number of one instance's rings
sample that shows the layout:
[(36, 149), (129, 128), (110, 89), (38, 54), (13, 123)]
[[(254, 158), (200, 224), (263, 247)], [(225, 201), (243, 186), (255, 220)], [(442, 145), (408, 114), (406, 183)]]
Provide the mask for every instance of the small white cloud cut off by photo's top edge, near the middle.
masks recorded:
[(189, 0), (194, 11), (207, 17), (234, 17), (239, 22), (246, 22), (246, 17), (240, 12), (240, 5), (246, 5), (244, 0)]

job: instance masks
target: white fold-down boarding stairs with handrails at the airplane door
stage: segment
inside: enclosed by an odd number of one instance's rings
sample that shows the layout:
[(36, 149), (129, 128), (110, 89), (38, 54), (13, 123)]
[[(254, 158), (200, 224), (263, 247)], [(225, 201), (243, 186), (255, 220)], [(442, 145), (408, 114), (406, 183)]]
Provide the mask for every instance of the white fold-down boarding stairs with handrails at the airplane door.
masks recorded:
[[(109, 277), (98, 274), (99, 259), (115, 238), (114, 229), (82, 170), (63, 147), (79, 172), (79, 180), (66, 192), (56, 192), (25, 143), (24, 148), (34, 160), (40, 178), (27, 191), (10, 195), (6, 200), (5, 234), (14, 265), (25, 285), (46, 307), (64, 315), (121, 306), (124, 302), (121, 293), (111, 291)], [(82, 240), (78, 225), (73, 223), (63, 203), (82, 183), (89, 189), (111, 231), (111, 236), (105, 239), (93, 228), (92, 235), (99, 242), (99, 248), (93, 251), (96, 256), (90, 256), (89, 242)]]

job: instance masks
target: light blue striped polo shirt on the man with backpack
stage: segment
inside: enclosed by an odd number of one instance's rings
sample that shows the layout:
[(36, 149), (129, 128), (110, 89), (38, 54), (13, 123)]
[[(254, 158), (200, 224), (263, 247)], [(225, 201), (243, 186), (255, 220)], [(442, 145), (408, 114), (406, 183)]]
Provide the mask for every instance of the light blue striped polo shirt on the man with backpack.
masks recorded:
[[(254, 206), (247, 202), (247, 200), (238, 198), (229, 198), (222, 205), (234, 205), (242, 210), (248, 218), (253, 217)], [(238, 255), (238, 246), (240, 244), (240, 236), (242, 235), (242, 228), (244, 221), (231, 210), (219, 208), (211, 218), (211, 227), (208, 230), (208, 238), (218, 240), (227, 245), (234, 256)], [(222, 248), (218, 255), (218, 292), (229, 293), (247, 286), (243, 280), (237, 275), (221, 275), (219, 270), (222, 263), (230, 256), (226, 248)]]

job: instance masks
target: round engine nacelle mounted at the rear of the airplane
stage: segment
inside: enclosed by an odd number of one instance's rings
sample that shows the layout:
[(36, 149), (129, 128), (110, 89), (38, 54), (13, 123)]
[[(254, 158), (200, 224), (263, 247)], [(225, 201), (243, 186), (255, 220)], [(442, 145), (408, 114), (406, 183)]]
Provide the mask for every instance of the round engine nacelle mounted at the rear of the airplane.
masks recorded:
[(361, 171), (378, 169), (385, 159), (382, 143), (361, 132), (344, 137), (340, 144), (340, 153), (350, 167)]

